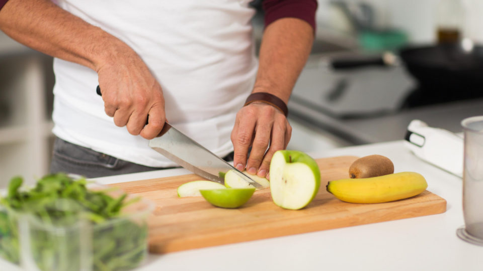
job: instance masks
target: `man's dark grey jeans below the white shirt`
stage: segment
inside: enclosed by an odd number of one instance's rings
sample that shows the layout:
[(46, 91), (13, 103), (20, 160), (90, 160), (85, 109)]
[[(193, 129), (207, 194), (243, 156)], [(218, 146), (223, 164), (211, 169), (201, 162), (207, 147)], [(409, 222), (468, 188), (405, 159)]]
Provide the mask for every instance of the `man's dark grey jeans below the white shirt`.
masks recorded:
[[(230, 153), (223, 159), (225, 161), (233, 161), (233, 153)], [(73, 173), (87, 178), (160, 169), (168, 168), (152, 168), (127, 162), (59, 138), (55, 139), (52, 163), (50, 164), (50, 173)]]

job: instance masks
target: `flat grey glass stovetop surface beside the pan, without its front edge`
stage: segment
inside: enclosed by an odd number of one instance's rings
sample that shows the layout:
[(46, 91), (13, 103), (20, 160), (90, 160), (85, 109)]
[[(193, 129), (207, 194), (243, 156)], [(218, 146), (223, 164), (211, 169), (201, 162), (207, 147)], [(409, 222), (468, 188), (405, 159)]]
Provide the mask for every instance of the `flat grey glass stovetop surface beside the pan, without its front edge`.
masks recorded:
[(312, 57), (300, 74), (291, 100), (334, 118), (361, 118), (397, 112), (415, 82), (403, 67), (332, 71)]

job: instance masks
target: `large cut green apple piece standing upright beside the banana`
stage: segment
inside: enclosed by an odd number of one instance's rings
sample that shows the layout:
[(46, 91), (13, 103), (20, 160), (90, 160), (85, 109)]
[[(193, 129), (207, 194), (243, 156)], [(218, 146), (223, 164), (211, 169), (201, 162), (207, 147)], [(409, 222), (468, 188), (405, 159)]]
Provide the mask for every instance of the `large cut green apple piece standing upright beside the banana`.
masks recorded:
[(270, 162), (270, 191), (276, 205), (291, 210), (307, 206), (320, 186), (317, 163), (299, 151), (280, 150)]

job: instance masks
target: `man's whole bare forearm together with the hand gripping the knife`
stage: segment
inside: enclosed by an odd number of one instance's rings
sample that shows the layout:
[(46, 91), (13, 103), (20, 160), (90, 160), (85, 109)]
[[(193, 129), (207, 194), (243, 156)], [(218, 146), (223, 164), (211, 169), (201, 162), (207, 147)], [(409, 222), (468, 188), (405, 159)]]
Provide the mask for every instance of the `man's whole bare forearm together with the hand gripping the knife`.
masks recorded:
[(131, 134), (146, 139), (163, 128), (161, 86), (142, 59), (118, 38), (50, 0), (10, 0), (0, 10), (0, 30), (37, 51), (95, 70), (106, 113), (116, 125), (125, 125)]

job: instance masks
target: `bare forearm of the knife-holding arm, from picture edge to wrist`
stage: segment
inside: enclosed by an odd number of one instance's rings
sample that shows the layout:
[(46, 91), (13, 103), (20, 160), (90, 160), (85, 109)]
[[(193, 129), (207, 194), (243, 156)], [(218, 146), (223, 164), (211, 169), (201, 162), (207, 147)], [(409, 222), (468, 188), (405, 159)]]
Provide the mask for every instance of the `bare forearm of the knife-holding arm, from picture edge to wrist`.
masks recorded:
[(95, 71), (132, 53), (119, 39), (48, 0), (10, 0), (0, 10), (0, 29), (30, 48)]

